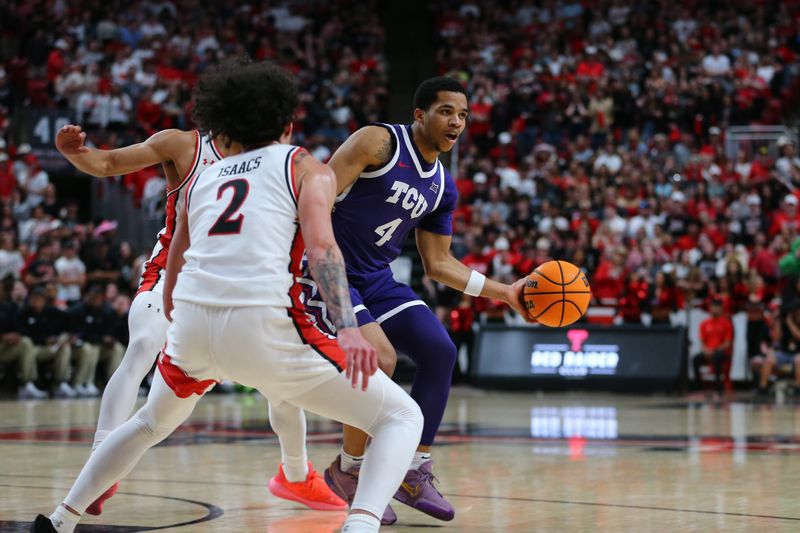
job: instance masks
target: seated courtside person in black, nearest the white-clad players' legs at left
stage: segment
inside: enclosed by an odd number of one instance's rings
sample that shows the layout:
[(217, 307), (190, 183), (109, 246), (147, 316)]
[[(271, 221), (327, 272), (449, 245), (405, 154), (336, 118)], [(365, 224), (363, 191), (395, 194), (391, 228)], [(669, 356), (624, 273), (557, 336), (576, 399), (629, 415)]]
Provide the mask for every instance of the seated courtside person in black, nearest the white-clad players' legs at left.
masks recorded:
[(75, 390), (80, 395), (97, 396), (100, 391), (95, 385), (97, 363), (106, 363), (106, 377), (110, 378), (122, 361), (125, 350), (114, 338), (116, 316), (108, 305), (103, 303), (103, 289), (93, 286), (86, 293), (83, 302), (74, 305), (69, 313), (72, 332), (76, 340), (73, 351), (78, 358), (88, 357), (92, 361), (89, 371), (80, 376)]

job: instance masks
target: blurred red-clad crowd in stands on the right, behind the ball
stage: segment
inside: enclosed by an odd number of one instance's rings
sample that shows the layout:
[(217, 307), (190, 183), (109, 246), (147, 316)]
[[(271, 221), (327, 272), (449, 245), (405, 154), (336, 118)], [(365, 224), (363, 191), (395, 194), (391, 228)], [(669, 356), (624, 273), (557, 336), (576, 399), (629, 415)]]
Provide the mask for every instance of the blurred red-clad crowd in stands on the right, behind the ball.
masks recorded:
[[(676, 323), (718, 300), (747, 313), (750, 355), (764, 355), (756, 331), (800, 303), (787, 281), (800, 158), (791, 128), (733, 152), (726, 131), (797, 123), (800, 2), (442, 1), (435, 14), (439, 69), (472, 94), (456, 255), (504, 281), (572, 261), (592, 283), (590, 321)], [(431, 289), (456, 330), (508, 319)]]

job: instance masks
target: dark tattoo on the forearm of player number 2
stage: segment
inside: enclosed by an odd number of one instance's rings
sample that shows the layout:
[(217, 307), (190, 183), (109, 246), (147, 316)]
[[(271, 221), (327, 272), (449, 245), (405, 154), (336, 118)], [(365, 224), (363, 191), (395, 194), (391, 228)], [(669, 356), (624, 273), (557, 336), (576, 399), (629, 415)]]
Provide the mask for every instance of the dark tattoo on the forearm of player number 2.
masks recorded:
[(325, 300), (328, 317), (336, 329), (358, 327), (339, 247), (329, 246), (321, 257), (309, 258), (308, 266)]

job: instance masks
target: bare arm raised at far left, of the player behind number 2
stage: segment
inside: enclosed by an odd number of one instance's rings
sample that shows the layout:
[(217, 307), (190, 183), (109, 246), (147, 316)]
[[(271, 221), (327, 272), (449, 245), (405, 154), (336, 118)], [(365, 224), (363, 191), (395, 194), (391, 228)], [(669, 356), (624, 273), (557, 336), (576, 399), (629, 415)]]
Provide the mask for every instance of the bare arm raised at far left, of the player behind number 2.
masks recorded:
[[(169, 161), (169, 154), (181, 153), (187, 146), (186, 136), (192, 133), (180, 130), (160, 131), (146, 141), (115, 150), (98, 150), (84, 144), (86, 133), (80, 126), (67, 124), (56, 135), (56, 148), (75, 167), (86, 174), (103, 178), (128, 174), (158, 163)], [(194, 139), (190, 142), (194, 142)]]

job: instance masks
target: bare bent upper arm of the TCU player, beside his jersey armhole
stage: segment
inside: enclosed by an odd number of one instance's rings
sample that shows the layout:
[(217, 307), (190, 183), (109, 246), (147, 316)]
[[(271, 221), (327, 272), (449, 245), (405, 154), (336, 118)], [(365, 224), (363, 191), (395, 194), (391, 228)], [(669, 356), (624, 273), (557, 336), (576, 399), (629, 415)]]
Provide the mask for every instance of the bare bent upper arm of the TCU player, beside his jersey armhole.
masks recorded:
[(382, 126), (364, 126), (336, 150), (328, 165), (336, 174), (336, 194), (340, 194), (369, 168), (389, 162), (393, 153), (393, 137)]

